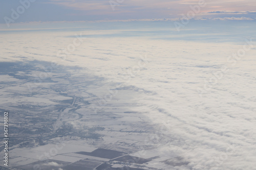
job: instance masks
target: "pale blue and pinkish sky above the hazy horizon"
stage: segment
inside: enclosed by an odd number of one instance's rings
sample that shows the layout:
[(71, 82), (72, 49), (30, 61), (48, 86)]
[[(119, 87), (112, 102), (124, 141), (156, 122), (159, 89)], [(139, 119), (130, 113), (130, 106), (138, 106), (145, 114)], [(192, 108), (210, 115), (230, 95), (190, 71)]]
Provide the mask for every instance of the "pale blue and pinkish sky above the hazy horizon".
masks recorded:
[[(1, 1), (0, 4), (0, 23), (182, 17), (256, 18), (254, 0), (11, 0)], [(13, 14), (15, 12), (19, 12), (18, 17)]]

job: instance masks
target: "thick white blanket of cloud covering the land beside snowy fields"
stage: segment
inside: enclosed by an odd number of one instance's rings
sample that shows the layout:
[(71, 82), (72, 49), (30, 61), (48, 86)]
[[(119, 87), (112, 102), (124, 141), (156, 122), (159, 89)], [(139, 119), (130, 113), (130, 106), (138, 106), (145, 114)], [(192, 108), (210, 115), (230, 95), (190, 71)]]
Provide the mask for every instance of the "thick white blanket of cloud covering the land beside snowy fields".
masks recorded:
[[(247, 20), (243, 17), (224, 19)], [(89, 73), (121, 84), (121, 90), (129, 90), (132, 97), (127, 99), (126, 95), (121, 94), (115, 97), (127, 105), (134, 105), (132, 109), (148, 117), (155, 126), (169, 120), (170, 130), (165, 132), (169, 142), (161, 145), (158, 152), (166, 157), (171, 153), (180, 156), (183, 162), (188, 162), (183, 169), (253, 169), (256, 165), (255, 50), (251, 49), (236, 67), (231, 67), (229, 72), (223, 74), (222, 80), (200, 97), (198, 87), (230, 64), (227, 56), (237, 52), (244, 42), (220, 42), (223, 37), (234, 38), (237, 32), (232, 34), (232, 30), (218, 30), (219, 34), (213, 34), (216, 30), (207, 28), (196, 30), (196, 34), (185, 31), (186, 34), (164, 34), (164, 38), (171, 40), (114, 36), (86, 38), (84, 44), (60, 64), (84, 67), (86, 69), (81, 70), (80, 74)], [(250, 36), (246, 34), (247, 31), (251, 30), (243, 30), (243, 36)], [(120, 32), (86, 30), (83, 33)], [(5, 34), (0, 44), (5, 58), (9, 60), (23, 61), (17, 56), (26, 56), (29, 60), (51, 62), (58, 60), (56, 49), (69, 44), (72, 39), (67, 36), (71, 35), (74, 32)], [(58, 38), (49, 41), (45, 37)], [(182, 40), (183, 37), (189, 40)], [(219, 42), (210, 41), (213, 38)], [(4, 41), (8, 39), (16, 41)], [(9, 54), (9, 51), (12, 53)], [(13, 53), (18, 55), (14, 56)], [(145, 53), (151, 59), (147, 68), (141, 69), (130, 82), (122, 79), (122, 73), (137, 65), (140, 54)], [(94, 91), (93, 86), (89, 90), (103, 96), (104, 93)], [(176, 158), (175, 162), (178, 161)], [(47, 165), (60, 166), (56, 162)]]

